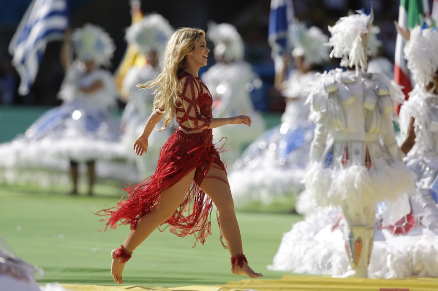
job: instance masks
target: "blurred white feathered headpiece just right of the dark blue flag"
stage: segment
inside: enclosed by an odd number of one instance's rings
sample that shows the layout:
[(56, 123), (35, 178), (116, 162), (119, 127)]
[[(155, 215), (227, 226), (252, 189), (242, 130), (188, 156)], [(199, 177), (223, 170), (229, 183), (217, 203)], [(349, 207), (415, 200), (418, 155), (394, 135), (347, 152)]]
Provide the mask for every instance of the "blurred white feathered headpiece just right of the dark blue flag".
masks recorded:
[(329, 59), (329, 48), (324, 45), (328, 41), (319, 28), (309, 29), (302, 23), (293, 24), (289, 29), (293, 56), (303, 56), (307, 65), (321, 64)]

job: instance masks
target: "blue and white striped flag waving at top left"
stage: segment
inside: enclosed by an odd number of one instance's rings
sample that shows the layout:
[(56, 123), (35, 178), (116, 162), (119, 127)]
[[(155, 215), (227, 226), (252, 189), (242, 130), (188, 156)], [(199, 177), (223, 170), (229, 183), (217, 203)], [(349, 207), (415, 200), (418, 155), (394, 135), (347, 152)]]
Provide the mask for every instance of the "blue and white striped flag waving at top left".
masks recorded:
[(33, 0), (9, 43), (12, 64), (20, 75), (20, 95), (29, 93), (48, 41), (63, 39), (69, 26), (67, 0)]

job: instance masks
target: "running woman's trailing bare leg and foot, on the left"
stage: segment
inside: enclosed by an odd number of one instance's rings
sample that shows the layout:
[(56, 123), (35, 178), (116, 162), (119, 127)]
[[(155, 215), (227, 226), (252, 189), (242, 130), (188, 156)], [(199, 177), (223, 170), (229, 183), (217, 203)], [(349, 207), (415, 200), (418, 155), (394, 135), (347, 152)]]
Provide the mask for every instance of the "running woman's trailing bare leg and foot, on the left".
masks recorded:
[[(123, 243), (123, 246), (128, 252), (132, 253), (158, 225), (169, 219), (175, 213), (175, 210), (187, 194), (193, 182), (194, 175), (195, 170), (160, 194), (157, 207), (138, 220), (135, 230), (131, 230)], [(113, 259), (111, 262), (111, 274), (113, 275), (114, 281), (118, 284), (123, 283), (122, 273), (124, 267), (125, 264), (119, 262), (118, 259)]]

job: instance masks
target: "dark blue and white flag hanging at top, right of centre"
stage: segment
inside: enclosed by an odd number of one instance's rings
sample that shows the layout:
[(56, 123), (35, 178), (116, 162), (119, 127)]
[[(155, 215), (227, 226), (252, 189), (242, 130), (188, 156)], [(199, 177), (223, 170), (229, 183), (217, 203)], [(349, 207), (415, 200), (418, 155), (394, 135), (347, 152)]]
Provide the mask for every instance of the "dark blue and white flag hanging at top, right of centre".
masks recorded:
[(268, 42), (273, 54), (289, 53), (288, 29), (293, 17), (292, 0), (271, 0)]

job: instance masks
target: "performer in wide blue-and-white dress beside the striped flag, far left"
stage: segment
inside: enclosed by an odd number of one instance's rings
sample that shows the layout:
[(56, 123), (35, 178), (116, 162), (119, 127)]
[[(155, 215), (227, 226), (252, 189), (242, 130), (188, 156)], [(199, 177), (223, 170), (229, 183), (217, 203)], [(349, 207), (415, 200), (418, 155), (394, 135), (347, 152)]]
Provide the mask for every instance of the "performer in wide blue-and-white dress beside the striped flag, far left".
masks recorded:
[[(54, 172), (56, 181), (69, 160), (73, 167), (124, 157), (118, 146), (120, 121), (111, 113), (117, 105), (117, 89), (111, 73), (98, 68), (109, 65), (113, 40), (101, 28), (87, 24), (74, 31), (72, 41), (78, 60), (61, 85), (63, 104), (45, 112), (24, 135), (0, 146), (6, 181), (50, 184), (53, 176), (43, 172)], [(103, 169), (99, 176), (107, 172)]]

